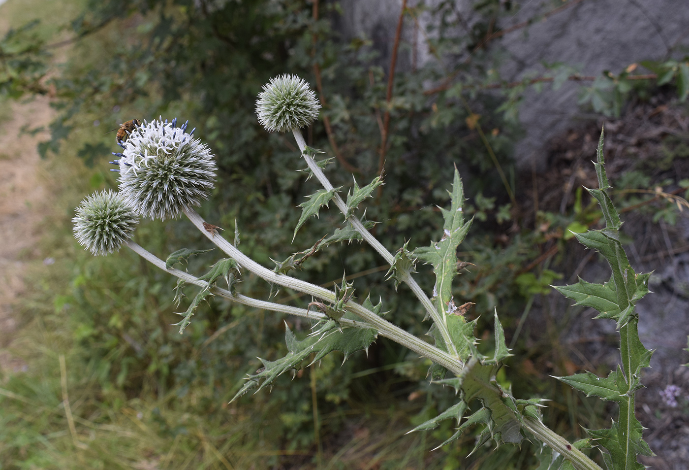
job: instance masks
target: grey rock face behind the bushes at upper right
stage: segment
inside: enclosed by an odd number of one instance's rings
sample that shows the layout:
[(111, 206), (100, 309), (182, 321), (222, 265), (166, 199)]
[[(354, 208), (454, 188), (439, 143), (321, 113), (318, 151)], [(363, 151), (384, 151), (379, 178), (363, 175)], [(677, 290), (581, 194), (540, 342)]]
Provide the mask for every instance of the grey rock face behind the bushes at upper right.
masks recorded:
[[(418, 0), (409, 0), (414, 6)], [(426, 1), (426, 5), (439, 3)], [(472, 0), (457, 0), (455, 10), (467, 26), (477, 19)], [(507, 2), (503, 2), (507, 3)], [(516, 28), (491, 41), (489, 47), (504, 48), (501, 74), (508, 81), (544, 72), (542, 63), (562, 62), (581, 75), (599, 77), (604, 70), (617, 74), (632, 63), (684, 57), (689, 48), (689, 3), (687, 0), (568, 0), (526, 1), (513, 16), (502, 17), (500, 28), (510, 31), (528, 19), (541, 17), (531, 26)], [(401, 0), (341, 0), (338, 29), (345, 37), (365, 35), (380, 52), (380, 65), (387, 70), (397, 27)], [(428, 18), (418, 17), (423, 28)], [(402, 38), (415, 49), (418, 63), (428, 54), (423, 37), (414, 33), (414, 23), (405, 18)], [(496, 28), (497, 29), (497, 28)], [(458, 34), (462, 33), (457, 27)], [(398, 68), (409, 68), (409, 49), (400, 50)], [(645, 69), (639, 69), (644, 70)], [(542, 92), (526, 92), (520, 119), (526, 135), (517, 145), (515, 157), (522, 167), (544, 168), (543, 151), (548, 139), (578, 121), (597, 117), (577, 104), (582, 85), (590, 81), (566, 82), (553, 90), (545, 84)]]

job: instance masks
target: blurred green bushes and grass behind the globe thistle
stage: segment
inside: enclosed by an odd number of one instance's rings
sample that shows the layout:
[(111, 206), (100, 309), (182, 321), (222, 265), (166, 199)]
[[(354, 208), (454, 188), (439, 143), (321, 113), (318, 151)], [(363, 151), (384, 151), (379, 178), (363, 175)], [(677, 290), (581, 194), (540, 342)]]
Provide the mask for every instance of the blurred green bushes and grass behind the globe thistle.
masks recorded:
[[(58, 114), (39, 151), (58, 175), (60, 196), (59, 215), (45, 222), (50, 230), (41, 242), (42, 253), (56, 262), (49, 270), (35, 264), (28, 277), (32, 289), (15, 306), (23, 329), (11, 351), (30, 366), (2, 377), (0, 468), (469, 466), (464, 458), (471, 438), (431, 452), (451, 435), (449, 427), (404, 435), (453, 400), (451, 391), (426, 383), (429, 364), (408, 351), (379, 339), (367, 356), (340, 365), (341, 356), (333, 353), (318, 367), (298, 371), (294, 380), (282, 378), (271, 393), (228, 405), (245, 374), (260, 366), (257, 356), (274, 360), (285, 353), (283, 320), (300, 334), (309, 324), (218, 300), (199, 309), (178, 335), (170, 324), (187, 304), (173, 304), (174, 278), (128, 251), (91, 257), (71, 237), (70, 217), (79, 200), (92, 190), (116, 188), (107, 160), (117, 148), (114, 133), (107, 131), (129, 119), (158, 116), (188, 119), (196, 136), (214, 149), (218, 184), (200, 213), (225, 228), (228, 237), (238, 228), (247, 255), (271, 266), (271, 260), (332, 233), (342, 219), (324, 210), (292, 242), (300, 215), (296, 206), (318, 187), (296, 171), (304, 165), (291, 136), (266, 133), (254, 115), (261, 86), (285, 72), (307, 78), (323, 101), (307, 143), (336, 156), (327, 168), (333, 184), (346, 193), (352, 175), (362, 186), (384, 174), (385, 186), (365, 209), (391, 251), (407, 241), (414, 247), (440, 237), (437, 206), (449, 200), (453, 165), (460, 169), (469, 197), (465, 210), (475, 222), (460, 247), (460, 260), (471, 264), (455, 297), (476, 304), (472, 318), (490, 320), (497, 307), (508, 338), (514, 338), (516, 357), (528, 358), (498, 379), (513, 384), (518, 397), (555, 400), (546, 410), (547, 422), (568, 438), (582, 437), (580, 425), (595, 427), (606, 419), (604, 405), (533, 371), (547, 354), (555, 363), (549, 373), (569, 373), (557, 338), (570, 313), (557, 318), (546, 313), (541, 344), (527, 342), (522, 331), (535, 300), (580, 253), (566, 229), (584, 231), (600, 215), (580, 192), (566, 210), (528, 205), (531, 186), (510, 155), (521, 135), (520, 94), (541, 82), (504, 84), (496, 71), (500, 46), (482, 47), (493, 23), (511, 14), (513, 2), (475, 2), (477, 21), (469, 30), (453, 11), (454, 2), (407, 8), (404, 21), (418, 25), (422, 14), (430, 18), (422, 34), (430, 55), (393, 72), (371, 39), (338, 33), (336, 2), (52, 3), (60, 8), (41, 12), (45, 2), (10, 0), (1, 10), (11, 15), (12, 29), (0, 40), (0, 99), (7, 104), (51, 97)], [(402, 41), (399, 50), (397, 45), (391, 56), (413, 56), (409, 44)], [(583, 88), (582, 104), (614, 115), (630, 96), (645, 99), (657, 84), (672, 86), (686, 99), (686, 62), (646, 66), (655, 79), (632, 82), (628, 70), (608, 72)], [(552, 66), (553, 86), (570, 70), (566, 64)], [(436, 85), (431, 92), (429, 84)], [(649, 188), (654, 182), (644, 174), (626, 182)], [(629, 205), (643, 206), (651, 197), (630, 199)], [(665, 209), (674, 204), (656, 199)], [(207, 248), (184, 220), (143, 222), (135, 239), (163, 259), (178, 248)], [(214, 255), (193, 258), (187, 268), (203, 273)], [(417, 335), (426, 333), (429, 325), (411, 293), (384, 282), (387, 266), (366, 246), (328, 248), (296, 275), (331, 286), (343, 271), (360, 299), (380, 296), (390, 320)], [(430, 269), (418, 266), (418, 271), (429, 291)], [(247, 277), (240, 291), (266, 298), (270, 286)], [(311, 300), (286, 291), (276, 298), (300, 306)], [(541, 303), (547, 310), (548, 303)], [(481, 330), (490, 328), (480, 320)], [(525, 447), (484, 450), (472, 457), (474, 466), (533, 464)]]

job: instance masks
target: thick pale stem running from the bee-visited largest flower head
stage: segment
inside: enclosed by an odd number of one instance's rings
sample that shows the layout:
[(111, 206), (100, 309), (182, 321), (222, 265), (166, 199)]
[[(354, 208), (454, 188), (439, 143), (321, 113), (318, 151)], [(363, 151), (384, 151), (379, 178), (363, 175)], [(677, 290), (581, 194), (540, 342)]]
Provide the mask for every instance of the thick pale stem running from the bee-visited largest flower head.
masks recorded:
[[(185, 215), (187, 215), (192, 224), (194, 224), (201, 233), (208, 237), (208, 239), (210, 239), (216, 246), (218, 246), (218, 248), (220, 248), (227, 255), (229, 255), (229, 257), (232, 257), (232, 259), (234, 259), (242, 268), (248, 269), (249, 271), (251, 271), (251, 273), (254, 273), (259, 277), (262, 277), (264, 280), (270, 282), (271, 284), (285, 286), (296, 291), (313, 295), (313, 297), (318, 297), (327, 302), (336, 302), (335, 293), (329, 291), (326, 288), (316, 286), (315, 284), (311, 284), (310, 282), (294, 279), (294, 277), (290, 277), (288, 275), (275, 273), (274, 271), (271, 271), (270, 269), (261, 266), (254, 260), (251, 260), (251, 258), (239, 251), (236, 248), (236, 246), (229, 243), (226, 239), (224, 239), (217, 233), (211, 233), (207, 231), (203, 227), (203, 218), (201, 218), (201, 216), (198, 215), (198, 213), (196, 213), (195, 210), (187, 208), (184, 210), (184, 213)], [(452, 373), (458, 375), (462, 372), (462, 369), (464, 369), (464, 363), (458, 360), (456, 357), (453, 357), (452, 355), (446, 353), (445, 351), (442, 351), (441, 349), (438, 349), (432, 344), (429, 344), (421, 340), (420, 338), (415, 337), (408, 331), (401, 329), (399, 326), (391, 324), (390, 322), (384, 320), (382, 317), (379, 317), (378, 315), (376, 315), (376, 313), (373, 313), (369, 309), (364, 309), (364, 307), (360, 306), (356, 302), (352, 302), (350, 300), (349, 302), (347, 302), (347, 307), (349, 311), (351, 311), (351, 313), (358, 315), (358, 317), (362, 318), (362, 320), (367, 322), (367, 326), (378, 330), (378, 333), (380, 333), (380, 335), (387, 337), (390, 340), (397, 342), (398, 344), (401, 344), (407, 349), (411, 349), (411, 351), (414, 351), (415, 353), (418, 353), (426, 358), (433, 360), (433, 362), (440, 364)]]

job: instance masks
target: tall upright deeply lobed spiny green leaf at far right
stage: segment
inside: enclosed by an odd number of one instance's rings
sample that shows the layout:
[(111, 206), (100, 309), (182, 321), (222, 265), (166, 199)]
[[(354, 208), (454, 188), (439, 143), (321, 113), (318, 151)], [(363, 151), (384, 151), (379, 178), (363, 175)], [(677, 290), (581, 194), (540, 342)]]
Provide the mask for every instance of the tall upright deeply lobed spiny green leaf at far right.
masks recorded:
[(638, 315), (634, 306), (637, 300), (648, 293), (648, 274), (637, 275), (629, 264), (628, 257), (619, 241), (621, 221), (606, 190), (610, 187), (604, 168), (603, 135), (599, 139), (597, 163), (595, 164), (599, 189), (589, 190), (601, 209), (606, 228), (599, 231), (577, 233), (575, 236), (588, 248), (603, 255), (613, 271), (606, 284), (590, 284), (579, 280), (573, 286), (557, 288), (558, 291), (573, 298), (579, 305), (591, 306), (600, 314), (597, 318), (612, 318), (617, 321), (620, 335), (621, 367), (599, 378), (592, 373), (575, 374), (559, 378), (586, 393), (597, 395), (604, 400), (617, 402), (619, 421), (613, 422), (610, 429), (588, 431), (597, 444), (608, 453), (603, 454), (608, 469), (642, 469), (637, 463), (639, 453), (650, 455), (648, 444), (644, 442), (641, 423), (634, 413), (635, 391), (641, 387), (641, 369), (650, 363), (652, 351), (644, 348), (639, 340)]

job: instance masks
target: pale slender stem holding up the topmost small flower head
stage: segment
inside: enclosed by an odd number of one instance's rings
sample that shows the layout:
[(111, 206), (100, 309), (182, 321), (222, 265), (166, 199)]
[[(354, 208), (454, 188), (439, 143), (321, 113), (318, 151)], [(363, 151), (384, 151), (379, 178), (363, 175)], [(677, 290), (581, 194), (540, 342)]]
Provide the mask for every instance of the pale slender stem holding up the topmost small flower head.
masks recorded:
[[(325, 188), (325, 190), (329, 191), (333, 189), (333, 185), (330, 183), (330, 180), (325, 176), (325, 173), (323, 173), (323, 170), (320, 169), (320, 167), (316, 164), (316, 161), (313, 160), (313, 158), (309, 157), (305, 153), (305, 148), (306, 148), (306, 142), (304, 141), (304, 137), (301, 134), (301, 131), (298, 129), (293, 129), (292, 133), (294, 134), (294, 138), (297, 141), (297, 145), (299, 146), (299, 150), (302, 152), (302, 157), (307, 162), (307, 165), (309, 165), (309, 168), (313, 172), (313, 175), (316, 175), (316, 178), (318, 178), (318, 181), (320, 184)], [(338, 195), (338, 193), (335, 193), (335, 196), (333, 197), (333, 201), (335, 202), (335, 205), (338, 206), (338, 209), (340, 209), (340, 212), (347, 216), (347, 204), (342, 200), (342, 197)], [(361, 234), (364, 240), (373, 247), (380, 256), (383, 257), (385, 262), (387, 264), (390, 264), (391, 266), (395, 262), (395, 257), (387, 251), (387, 248), (382, 246), (380, 242), (378, 242), (378, 239), (371, 235), (369, 231), (367, 231), (366, 227), (364, 227), (364, 224), (361, 223), (361, 221), (357, 217), (350, 216), (349, 219), (347, 219), (349, 223), (352, 224), (354, 229)], [(426, 312), (431, 315), (431, 318), (433, 319), (433, 322), (435, 322), (436, 326), (440, 330), (440, 333), (442, 333), (442, 338), (450, 348), (450, 353), (451, 355), (454, 355), (455, 357), (457, 356), (457, 349), (455, 348), (454, 342), (451, 340), (450, 337), (450, 332), (447, 329), (447, 321), (446, 318), (438, 312), (437, 309), (433, 306), (433, 303), (429, 299), (429, 297), (424, 293), (422, 290), (421, 286), (416, 283), (413, 277), (411, 277), (411, 274), (409, 273), (404, 273), (402, 275), (402, 282), (407, 284), (409, 288), (411, 288), (411, 291), (416, 295), (418, 300), (423, 304), (424, 309), (426, 309)]]

